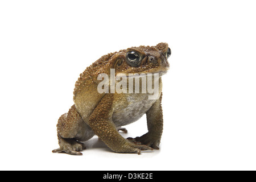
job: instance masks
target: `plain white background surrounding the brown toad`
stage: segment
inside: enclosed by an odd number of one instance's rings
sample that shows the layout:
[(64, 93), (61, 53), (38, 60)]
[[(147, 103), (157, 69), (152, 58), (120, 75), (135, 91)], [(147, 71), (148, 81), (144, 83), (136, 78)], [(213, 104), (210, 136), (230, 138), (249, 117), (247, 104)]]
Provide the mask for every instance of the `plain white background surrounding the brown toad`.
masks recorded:
[[(0, 169), (255, 170), (254, 1), (1, 1)], [(159, 151), (52, 154), (56, 123), (86, 67), (167, 42)], [(146, 133), (146, 118), (125, 137)]]

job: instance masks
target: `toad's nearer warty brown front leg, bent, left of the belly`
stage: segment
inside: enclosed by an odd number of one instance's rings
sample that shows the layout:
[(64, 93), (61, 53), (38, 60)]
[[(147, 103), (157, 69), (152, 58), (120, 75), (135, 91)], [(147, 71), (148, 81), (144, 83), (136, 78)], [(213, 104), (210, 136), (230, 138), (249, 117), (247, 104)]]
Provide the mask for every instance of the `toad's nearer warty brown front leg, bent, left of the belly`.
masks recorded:
[(114, 152), (141, 154), (141, 150), (151, 147), (136, 144), (123, 138), (113, 121), (113, 94), (105, 94), (89, 117), (89, 125), (96, 135)]

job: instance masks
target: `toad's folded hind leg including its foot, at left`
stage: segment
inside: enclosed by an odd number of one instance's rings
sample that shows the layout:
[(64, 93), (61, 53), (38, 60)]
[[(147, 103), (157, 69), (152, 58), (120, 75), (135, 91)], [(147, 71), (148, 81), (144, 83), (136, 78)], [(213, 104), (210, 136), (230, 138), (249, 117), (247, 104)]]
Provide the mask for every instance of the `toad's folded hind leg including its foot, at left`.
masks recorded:
[(59, 148), (52, 152), (65, 152), (71, 155), (82, 155), (85, 144), (79, 142), (89, 139), (93, 136), (86, 136), (86, 124), (77, 112), (75, 105), (69, 109), (68, 113), (61, 115), (57, 123), (57, 137), (59, 140)]

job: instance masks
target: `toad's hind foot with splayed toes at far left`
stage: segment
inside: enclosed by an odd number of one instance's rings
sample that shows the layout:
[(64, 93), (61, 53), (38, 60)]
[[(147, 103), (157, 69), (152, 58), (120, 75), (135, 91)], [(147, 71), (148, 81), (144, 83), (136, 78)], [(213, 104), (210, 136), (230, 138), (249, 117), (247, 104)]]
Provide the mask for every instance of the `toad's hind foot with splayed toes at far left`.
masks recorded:
[(61, 138), (60, 148), (53, 150), (53, 153), (65, 152), (71, 155), (82, 155), (81, 152), (86, 149), (85, 144), (77, 141), (76, 139)]

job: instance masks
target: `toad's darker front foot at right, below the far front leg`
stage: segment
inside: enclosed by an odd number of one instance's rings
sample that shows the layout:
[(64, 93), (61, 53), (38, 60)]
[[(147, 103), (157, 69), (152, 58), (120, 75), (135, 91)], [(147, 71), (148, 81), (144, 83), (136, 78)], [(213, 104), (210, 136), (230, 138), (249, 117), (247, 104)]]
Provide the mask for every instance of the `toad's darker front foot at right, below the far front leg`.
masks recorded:
[(136, 137), (136, 138), (129, 137), (127, 138), (127, 140), (135, 144), (144, 144), (146, 146), (159, 150), (160, 141), (158, 139), (155, 140), (153, 135), (150, 135), (148, 133), (142, 135), (141, 137)]

